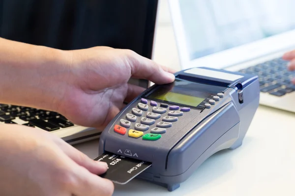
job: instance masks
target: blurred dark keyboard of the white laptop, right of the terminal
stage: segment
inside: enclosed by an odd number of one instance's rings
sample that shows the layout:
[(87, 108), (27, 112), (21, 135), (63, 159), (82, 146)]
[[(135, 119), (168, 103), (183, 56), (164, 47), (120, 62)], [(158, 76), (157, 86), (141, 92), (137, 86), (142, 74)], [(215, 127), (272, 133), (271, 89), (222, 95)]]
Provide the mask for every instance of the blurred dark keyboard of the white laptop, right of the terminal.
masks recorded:
[(295, 72), (288, 71), (287, 64), (288, 61), (277, 58), (239, 72), (258, 75), (261, 92), (281, 97), (295, 91), (295, 85), (291, 82)]

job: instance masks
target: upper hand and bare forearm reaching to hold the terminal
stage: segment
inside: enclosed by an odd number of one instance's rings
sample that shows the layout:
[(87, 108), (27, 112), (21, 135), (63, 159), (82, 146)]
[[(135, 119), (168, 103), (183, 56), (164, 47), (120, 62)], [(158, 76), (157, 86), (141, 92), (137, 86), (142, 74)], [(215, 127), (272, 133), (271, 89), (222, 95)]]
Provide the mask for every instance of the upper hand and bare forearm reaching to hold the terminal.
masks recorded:
[(131, 50), (59, 50), (0, 38), (0, 102), (59, 112), (83, 126), (104, 128), (144, 90), (130, 77), (163, 84), (174, 81), (169, 72)]

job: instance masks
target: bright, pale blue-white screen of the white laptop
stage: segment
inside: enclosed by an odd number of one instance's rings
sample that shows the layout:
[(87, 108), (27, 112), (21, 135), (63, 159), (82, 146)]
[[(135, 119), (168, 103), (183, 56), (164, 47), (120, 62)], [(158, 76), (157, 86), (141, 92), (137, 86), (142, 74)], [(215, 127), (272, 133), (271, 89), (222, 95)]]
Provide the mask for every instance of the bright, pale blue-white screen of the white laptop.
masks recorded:
[(294, 0), (178, 2), (190, 60), (295, 29)]

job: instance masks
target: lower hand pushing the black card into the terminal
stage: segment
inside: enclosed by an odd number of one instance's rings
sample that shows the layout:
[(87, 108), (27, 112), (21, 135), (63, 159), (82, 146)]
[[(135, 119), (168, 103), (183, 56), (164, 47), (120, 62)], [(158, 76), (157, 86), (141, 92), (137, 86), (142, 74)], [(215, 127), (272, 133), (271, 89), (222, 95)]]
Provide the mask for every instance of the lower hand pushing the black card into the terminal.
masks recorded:
[(0, 124), (0, 192), (3, 196), (111, 196), (114, 185), (95, 162), (55, 135)]

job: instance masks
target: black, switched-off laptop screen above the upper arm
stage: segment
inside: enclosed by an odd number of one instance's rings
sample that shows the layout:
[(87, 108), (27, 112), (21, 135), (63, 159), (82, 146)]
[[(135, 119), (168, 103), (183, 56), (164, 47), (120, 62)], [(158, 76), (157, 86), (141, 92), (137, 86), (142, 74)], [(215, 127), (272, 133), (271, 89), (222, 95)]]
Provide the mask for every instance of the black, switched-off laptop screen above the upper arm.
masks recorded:
[(0, 37), (57, 49), (110, 46), (150, 58), (157, 0), (0, 0)]

